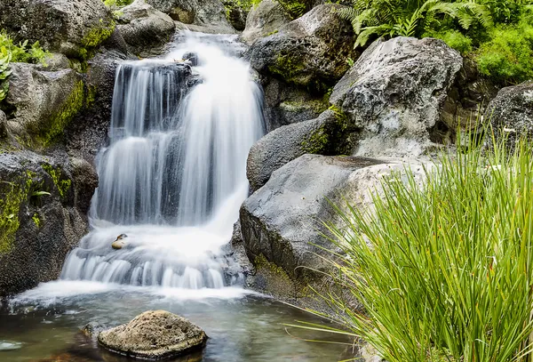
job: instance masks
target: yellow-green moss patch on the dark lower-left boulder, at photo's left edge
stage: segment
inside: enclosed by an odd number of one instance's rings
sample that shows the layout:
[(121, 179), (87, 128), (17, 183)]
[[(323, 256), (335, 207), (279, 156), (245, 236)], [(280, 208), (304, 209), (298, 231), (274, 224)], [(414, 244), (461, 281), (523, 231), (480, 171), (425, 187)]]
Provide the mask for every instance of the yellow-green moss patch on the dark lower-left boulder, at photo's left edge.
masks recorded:
[(2, 181), (4, 196), (0, 199), (0, 253), (10, 253), (15, 234), (20, 228), (20, 206), (28, 199), (34, 173), (27, 172), (17, 181)]

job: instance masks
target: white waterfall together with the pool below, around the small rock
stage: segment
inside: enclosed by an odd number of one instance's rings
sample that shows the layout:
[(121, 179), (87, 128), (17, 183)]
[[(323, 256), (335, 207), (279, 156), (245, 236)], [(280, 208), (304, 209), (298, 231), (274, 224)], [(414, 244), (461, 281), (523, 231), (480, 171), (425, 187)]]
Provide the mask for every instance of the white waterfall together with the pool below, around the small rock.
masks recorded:
[[(175, 61), (189, 52), (197, 65)], [(330, 335), (289, 334), (284, 323), (313, 318), (244, 290), (239, 265), (223, 252), (249, 190), (248, 151), (264, 133), (262, 93), (238, 52), (233, 36), (188, 35), (165, 58), (117, 68), (91, 233), (59, 280), (0, 312), (0, 361), (124, 361), (85, 340), (80, 326), (115, 326), (155, 309), (210, 336), (202, 352), (176, 361), (341, 358), (343, 346), (303, 340)], [(121, 234), (125, 245), (112, 249)]]

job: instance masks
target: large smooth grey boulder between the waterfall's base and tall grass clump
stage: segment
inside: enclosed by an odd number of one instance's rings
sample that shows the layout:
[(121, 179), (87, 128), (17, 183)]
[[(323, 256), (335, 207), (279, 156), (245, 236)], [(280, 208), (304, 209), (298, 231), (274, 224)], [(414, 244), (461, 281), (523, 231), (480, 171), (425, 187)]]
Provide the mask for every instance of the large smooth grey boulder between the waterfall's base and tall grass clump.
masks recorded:
[[(246, 253), (258, 270), (271, 270), (255, 287), (296, 302), (306, 296), (309, 284), (328, 293), (321, 273), (331, 267), (321, 255), (330, 259), (333, 255), (326, 251), (336, 248), (322, 236), (330, 235), (322, 222), (343, 225), (331, 203), (345, 212), (346, 202), (369, 209), (371, 192), (379, 190), (382, 178), (406, 166), (398, 159), (304, 155), (274, 171), (240, 212)], [(421, 178), (424, 171), (418, 161), (410, 166)], [(282, 287), (286, 289), (280, 295)]]

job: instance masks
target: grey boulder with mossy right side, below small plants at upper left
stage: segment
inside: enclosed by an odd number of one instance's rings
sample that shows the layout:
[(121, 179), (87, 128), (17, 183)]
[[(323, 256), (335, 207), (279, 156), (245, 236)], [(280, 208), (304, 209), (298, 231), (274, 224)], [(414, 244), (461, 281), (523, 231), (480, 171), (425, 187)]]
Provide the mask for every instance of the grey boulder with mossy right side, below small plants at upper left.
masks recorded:
[(25, 145), (48, 146), (87, 104), (82, 76), (72, 69), (43, 71), (27, 63), (12, 63), (11, 68), (4, 100), (12, 109), (8, 129)]

